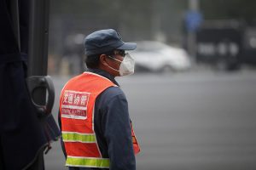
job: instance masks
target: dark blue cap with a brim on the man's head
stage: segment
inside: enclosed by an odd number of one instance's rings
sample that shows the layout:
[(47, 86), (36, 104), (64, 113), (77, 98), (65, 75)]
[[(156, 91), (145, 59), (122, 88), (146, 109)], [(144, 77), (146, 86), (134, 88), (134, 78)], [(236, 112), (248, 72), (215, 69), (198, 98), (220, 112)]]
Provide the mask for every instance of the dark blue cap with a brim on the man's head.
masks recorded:
[(87, 56), (104, 54), (115, 49), (133, 50), (136, 43), (123, 42), (117, 31), (113, 29), (92, 32), (84, 38), (84, 54)]

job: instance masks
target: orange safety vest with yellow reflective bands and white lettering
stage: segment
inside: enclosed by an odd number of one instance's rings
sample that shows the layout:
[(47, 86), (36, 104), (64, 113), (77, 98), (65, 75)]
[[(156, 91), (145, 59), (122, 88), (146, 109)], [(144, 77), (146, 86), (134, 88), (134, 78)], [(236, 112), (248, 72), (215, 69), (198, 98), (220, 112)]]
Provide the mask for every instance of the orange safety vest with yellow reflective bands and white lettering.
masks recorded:
[[(61, 133), (67, 152), (66, 166), (109, 168), (109, 158), (102, 158), (94, 131), (96, 97), (109, 87), (117, 87), (106, 77), (84, 72), (73, 77), (61, 91)], [(134, 152), (140, 147), (132, 125)]]

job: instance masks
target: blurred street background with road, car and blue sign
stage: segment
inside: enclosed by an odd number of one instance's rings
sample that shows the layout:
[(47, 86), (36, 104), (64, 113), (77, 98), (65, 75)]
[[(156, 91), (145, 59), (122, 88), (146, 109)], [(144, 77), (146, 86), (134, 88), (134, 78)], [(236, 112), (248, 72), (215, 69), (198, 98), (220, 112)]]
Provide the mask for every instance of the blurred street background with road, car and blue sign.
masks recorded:
[[(142, 152), (137, 169), (256, 169), (256, 1), (52, 0), (49, 75), (85, 70), (84, 37), (113, 28), (136, 73), (117, 81)], [(65, 169), (59, 142), (46, 169)]]

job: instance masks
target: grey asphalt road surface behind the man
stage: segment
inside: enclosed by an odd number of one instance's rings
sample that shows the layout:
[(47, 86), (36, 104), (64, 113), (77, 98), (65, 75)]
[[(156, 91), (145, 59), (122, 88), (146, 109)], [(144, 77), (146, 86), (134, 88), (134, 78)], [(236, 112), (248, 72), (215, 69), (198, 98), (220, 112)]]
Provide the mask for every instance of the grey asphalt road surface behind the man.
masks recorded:
[[(118, 77), (142, 151), (138, 170), (256, 169), (256, 71), (135, 74)], [(69, 77), (52, 77), (56, 118)], [(49, 170), (67, 169), (58, 142)]]

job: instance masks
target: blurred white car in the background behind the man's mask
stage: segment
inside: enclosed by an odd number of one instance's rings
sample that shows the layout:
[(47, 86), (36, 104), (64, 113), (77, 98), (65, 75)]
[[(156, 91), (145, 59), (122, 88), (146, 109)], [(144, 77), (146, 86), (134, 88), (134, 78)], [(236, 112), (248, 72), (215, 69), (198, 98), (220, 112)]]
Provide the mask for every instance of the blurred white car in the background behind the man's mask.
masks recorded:
[(136, 71), (184, 71), (190, 67), (189, 55), (183, 48), (174, 48), (162, 42), (137, 42), (131, 51)]

